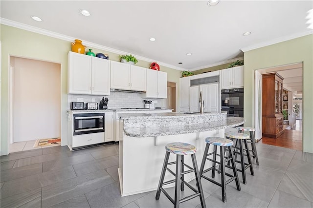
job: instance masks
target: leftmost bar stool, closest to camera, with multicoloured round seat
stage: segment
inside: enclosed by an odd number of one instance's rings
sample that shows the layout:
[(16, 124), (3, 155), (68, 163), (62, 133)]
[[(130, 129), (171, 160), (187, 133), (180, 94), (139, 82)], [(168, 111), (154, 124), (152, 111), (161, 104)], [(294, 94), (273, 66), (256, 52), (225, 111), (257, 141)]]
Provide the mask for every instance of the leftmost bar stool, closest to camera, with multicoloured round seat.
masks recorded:
[[(179, 143), (179, 142), (176, 143), (175, 142), (175, 143), (167, 144), (165, 146), (165, 149), (166, 149), (165, 159), (164, 159), (164, 163), (162, 166), (160, 181), (158, 183), (158, 187), (156, 191), (156, 200), (160, 198), (160, 193), (162, 191), (165, 194), (165, 196), (174, 204), (174, 207), (179, 208), (179, 203), (182, 203), (190, 199), (193, 199), (197, 196), (200, 196), (201, 206), (202, 208), (206, 208), (203, 190), (201, 186), (201, 177), (199, 174), (197, 160), (195, 156), (195, 153), (197, 151), (196, 147), (188, 143)], [(176, 162), (168, 163), (170, 153), (176, 154)], [(184, 163), (184, 155), (191, 155), (193, 168)], [(173, 165), (173, 164), (176, 164), (176, 173), (174, 173), (171, 169), (167, 167), (168, 165)], [(184, 171), (184, 166), (189, 168), (189, 170)], [(166, 181), (163, 183), (166, 170), (169, 171), (172, 175), (174, 175), (175, 179)], [(191, 173), (191, 172), (195, 172), (198, 190), (192, 185), (188, 184), (186, 181), (184, 181), (184, 174)], [(163, 185), (171, 184), (174, 182), (175, 182), (175, 199), (173, 199), (162, 187)], [(186, 196), (182, 199), (179, 199), (179, 189), (183, 191), (184, 185), (186, 185), (187, 187), (189, 187), (196, 193), (190, 196)]]

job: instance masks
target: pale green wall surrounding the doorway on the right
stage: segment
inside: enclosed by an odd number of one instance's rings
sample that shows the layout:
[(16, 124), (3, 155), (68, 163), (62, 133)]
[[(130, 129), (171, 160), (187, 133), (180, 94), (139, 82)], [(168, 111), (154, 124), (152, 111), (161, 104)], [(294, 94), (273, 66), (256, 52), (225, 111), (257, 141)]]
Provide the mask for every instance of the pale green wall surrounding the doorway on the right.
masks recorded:
[(245, 60), (244, 115), (253, 125), (254, 71), (303, 62), (303, 151), (313, 153), (313, 35), (247, 51)]

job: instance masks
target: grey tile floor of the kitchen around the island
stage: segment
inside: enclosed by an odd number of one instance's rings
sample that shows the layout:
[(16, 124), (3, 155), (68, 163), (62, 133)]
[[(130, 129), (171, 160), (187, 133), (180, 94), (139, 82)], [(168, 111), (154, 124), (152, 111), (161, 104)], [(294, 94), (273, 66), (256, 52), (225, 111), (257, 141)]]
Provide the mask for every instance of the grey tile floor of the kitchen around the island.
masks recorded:
[[(313, 208), (313, 154), (262, 143), (256, 146), (260, 166), (253, 160), (255, 175), (247, 171), (247, 184), (241, 183), (241, 191), (234, 182), (226, 186), (226, 203), (221, 188), (202, 179), (206, 206)], [(120, 196), (118, 145), (74, 152), (67, 146), (48, 147), (10, 153), (0, 160), (1, 208), (174, 207), (163, 193), (156, 201), (156, 191)], [(181, 195), (188, 193), (185, 188)], [(200, 208), (201, 204), (197, 197), (180, 206)]]

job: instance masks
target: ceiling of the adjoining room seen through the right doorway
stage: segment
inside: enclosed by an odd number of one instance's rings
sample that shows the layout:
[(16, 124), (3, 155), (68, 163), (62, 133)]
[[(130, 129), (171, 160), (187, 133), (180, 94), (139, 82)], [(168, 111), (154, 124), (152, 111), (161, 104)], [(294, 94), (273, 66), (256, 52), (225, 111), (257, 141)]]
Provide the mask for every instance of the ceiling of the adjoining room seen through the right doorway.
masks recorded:
[(290, 65), (278, 66), (267, 69), (258, 70), (261, 74), (277, 72), (284, 78), (283, 88), (287, 89), (293, 94), (302, 94), (303, 88), (303, 71), (302, 63), (295, 63)]

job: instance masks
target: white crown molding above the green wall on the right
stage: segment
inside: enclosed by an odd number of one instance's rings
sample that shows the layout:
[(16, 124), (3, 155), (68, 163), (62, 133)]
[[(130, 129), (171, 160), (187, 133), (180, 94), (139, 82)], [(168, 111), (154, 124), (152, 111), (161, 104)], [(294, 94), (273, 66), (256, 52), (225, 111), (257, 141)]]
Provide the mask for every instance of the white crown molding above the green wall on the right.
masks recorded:
[(300, 38), (302, 36), (311, 35), (311, 34), (313, 34), (313, 30), (309, 30), (309, 31), (306, 31), (306, 32), (303, 32), (303, 33), (296, 33), (296, 34), (292, 34), (292, 35), (288, 35), (288, 36), (283, 36), (283, 37), (280, 37), (280, 38), (277, 38), (277, 39), (274, 39), (274, 40), (270, 40), (270, 41), (267, 41), (267, 42), (260, 42), (260, 43), (257, 43), (257, 44), (253, 44), (253, 45), (241, 48), (240, 50), (242, 50), (243, 52), (247, 52), (247, 51), (250, 51), (250, 50), (257, 49), (257, 48), (265, 47), (265, 46), (268, 46), (268, 45), (273, 45), (273, 44), (276, 44), (276, 43), (279, 43), (279, 42), (289, 41), (289, 40), (292, 40), (292, 39)]

